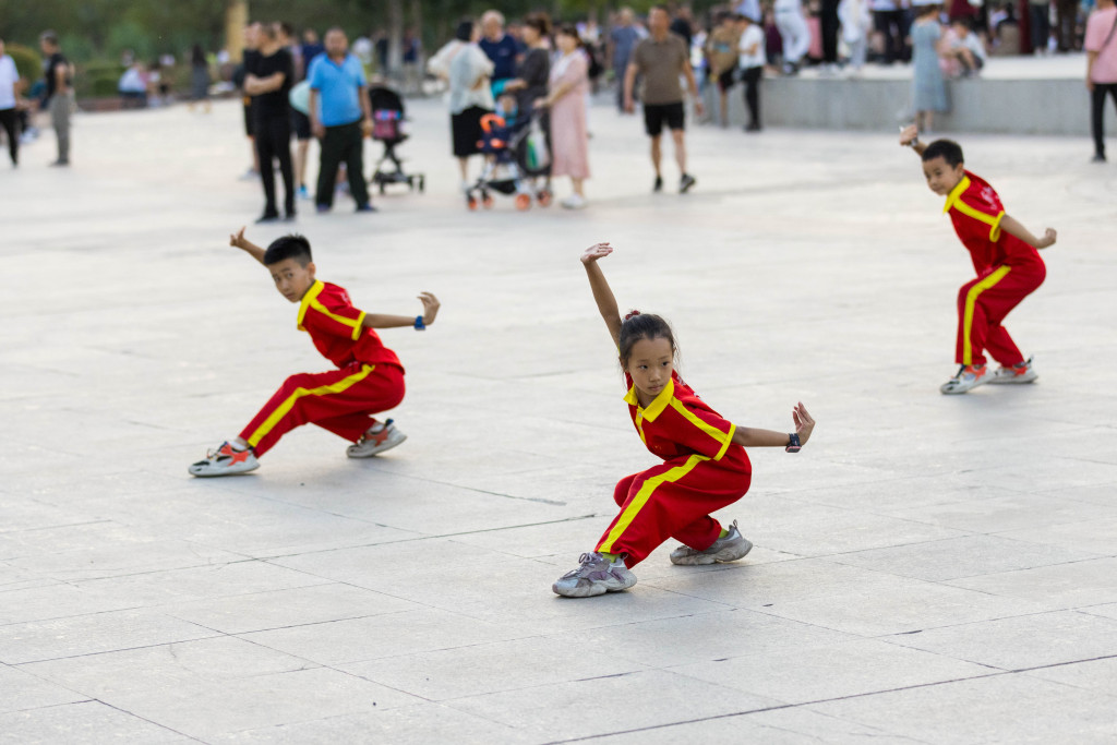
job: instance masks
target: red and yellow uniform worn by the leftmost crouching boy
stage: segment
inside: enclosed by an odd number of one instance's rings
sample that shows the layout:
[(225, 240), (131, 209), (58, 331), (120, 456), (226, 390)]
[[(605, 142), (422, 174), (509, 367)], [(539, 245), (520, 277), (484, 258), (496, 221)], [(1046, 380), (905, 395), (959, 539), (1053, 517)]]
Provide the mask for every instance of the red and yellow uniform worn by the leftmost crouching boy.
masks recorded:
[(257, 456), (302, 424), (356, 442), (372, 414), (403, 400), (403, 366), (353, 307), (337, 285), (315, 281), (298, 308), (298, 329), (311, 334), (318, 352), (337, 365), (324, 373), (292, 375), (240, 433)]

